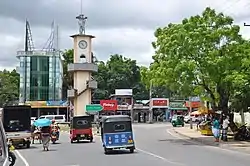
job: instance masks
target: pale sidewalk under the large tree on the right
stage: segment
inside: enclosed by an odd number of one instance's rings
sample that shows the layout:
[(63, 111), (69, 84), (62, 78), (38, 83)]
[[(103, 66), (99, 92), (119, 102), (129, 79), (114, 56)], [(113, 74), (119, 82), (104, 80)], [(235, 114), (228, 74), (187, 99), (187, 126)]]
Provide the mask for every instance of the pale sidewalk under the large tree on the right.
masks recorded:
[(201, 135), (199, 131), (197, 131), (196, 126), (193, 126), (193, 129), (190, 129), (190, 126), (186, 127), (175, 127), (173, 131), (182, 137), (186, 137), (190, 140), (202, 143), (204, 145), (209, 146), (217, 146), (223, 149), (231, 149), (237, 150), (245, 153), (250, 153), (250, 142), (247, 141), (234, 141), (232, 137), (228, 137), (228, 142), (220, 141), (215, 142), (213, 136), (205, 136)]

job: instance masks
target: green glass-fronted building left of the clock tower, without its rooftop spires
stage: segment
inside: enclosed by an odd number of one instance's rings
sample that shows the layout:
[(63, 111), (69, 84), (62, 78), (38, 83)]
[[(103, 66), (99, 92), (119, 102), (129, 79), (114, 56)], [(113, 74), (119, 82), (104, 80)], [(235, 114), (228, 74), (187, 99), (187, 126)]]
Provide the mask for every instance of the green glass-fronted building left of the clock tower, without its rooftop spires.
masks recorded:
[(62, 99), (63, 63), (59, 52), (20, 51), (19, 102)]

